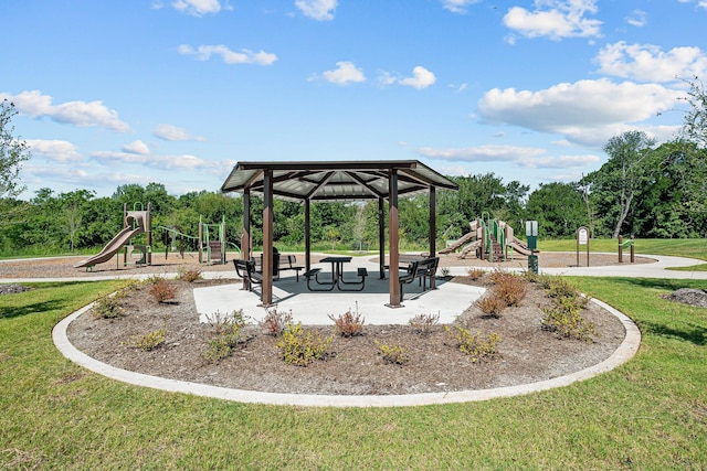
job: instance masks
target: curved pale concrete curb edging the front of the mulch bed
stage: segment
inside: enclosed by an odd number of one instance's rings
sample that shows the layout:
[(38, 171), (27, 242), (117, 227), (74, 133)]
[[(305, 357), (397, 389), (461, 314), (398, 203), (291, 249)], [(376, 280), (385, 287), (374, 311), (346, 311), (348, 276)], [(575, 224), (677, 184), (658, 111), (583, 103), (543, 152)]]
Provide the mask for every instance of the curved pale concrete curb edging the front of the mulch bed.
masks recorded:
[(210, 386), (184, 381), (167, 379), (158, 376), (145, 375), (129, 372), (107, 365), (92, 358), (78, 351), (66, 335), (68, 324), (74, 319), (91, 309), (88, 304), (71, 315), (63, 319), (54, 327), (52, 339), (59, 351), (68, 360), (101, 375), (113, 379), (129, 383), (136, 386), (151, 387), (172, 393), (193, 394), (196, 396), (213, 397), (218, 399), (234, 400), (239, 403), (288, 405), (288, 406), (318, 406), (318, 407), (400, 407), (400, 406), (423, 406), (433, 404), (451, 404), (487, 400), (498, 397), (519, 396), (539, 390), (547, 390), (556, 387), (567, 386), (578, 381), (589, 379), (599, 374), (605, 373), (616, 366), (627, 362), (635, 355), (641, 344), (641, 332), (636, 324), (623, 313), (613, 309), (603, 301), (592, 299), (615, 315), (623, 324), (626, 335), (614, 353), (603, 362), (581, 370), (579, 372), (547, 379), (537, 383), (523, 384), (517, 386), (499, 387), (495, 389), (460, 390), (451, 393), (424, 393), (404, 394), (390, 396), (330, 396), (315, 394), (277, 394), (261, 393), (256, 390), (231, 389), (220, 386)]

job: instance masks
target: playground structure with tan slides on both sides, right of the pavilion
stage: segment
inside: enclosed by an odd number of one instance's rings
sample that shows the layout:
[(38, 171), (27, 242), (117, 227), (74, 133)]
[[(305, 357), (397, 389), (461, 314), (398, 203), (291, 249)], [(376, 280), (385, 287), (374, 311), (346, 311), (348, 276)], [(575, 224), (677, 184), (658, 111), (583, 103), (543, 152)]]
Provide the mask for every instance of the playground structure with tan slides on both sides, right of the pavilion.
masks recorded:
[(506, 261), (508, 250), (517, 251), (524, 256), (534, 255), (526, 243), (514, 235), (509, 224), (492, 218), (488, 213), (469, 223), (469, 232), (460, 239), (447, 244), (447, 247), (439, 250), (440, 254), (451, 254), (458, 250), (457, 258), (466, 258), (474, 254), (476, 258), (487, 259), (490, 263)]

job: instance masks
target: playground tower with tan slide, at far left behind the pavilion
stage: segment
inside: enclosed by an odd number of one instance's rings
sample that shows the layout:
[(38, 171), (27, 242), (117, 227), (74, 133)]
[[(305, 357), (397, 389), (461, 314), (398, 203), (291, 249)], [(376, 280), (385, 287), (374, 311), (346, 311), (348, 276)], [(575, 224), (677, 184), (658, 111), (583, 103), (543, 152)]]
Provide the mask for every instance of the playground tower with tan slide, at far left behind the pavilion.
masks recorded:
[[(137, 206), (139, 205), (139, 210)], [(147, 234), (147, 243), (145, 245), (133, 244), (133, 238), (141, 233)], [(133, 254), (139, 251), (139, 258), (136, 265), (151, 265), (152, 263), (152, 217), (151, 205), (147, 203), (147, 210), (143, 203), (135, 203), (133, 211), (128, 211), (127, 203), (123, 205), (123, 231), (120, 231), (98, 254), (74, 265), (74, 268), (83, 268), (92, 270), (94, 266), (103, 264), (112, 259), (120, 249), (125, 248), (123, 255), (123, 264), (127, 265), (128, 258), (134, 258)]]

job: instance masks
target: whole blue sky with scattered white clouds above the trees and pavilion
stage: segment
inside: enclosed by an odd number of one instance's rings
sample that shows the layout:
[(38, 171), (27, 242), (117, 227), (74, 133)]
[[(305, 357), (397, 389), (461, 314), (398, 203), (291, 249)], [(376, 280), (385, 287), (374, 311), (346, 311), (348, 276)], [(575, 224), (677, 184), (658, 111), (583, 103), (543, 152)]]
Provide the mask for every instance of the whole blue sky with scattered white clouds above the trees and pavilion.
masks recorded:
[[(418, 159), (531, 188), (679, 128), (707, 0), (3, 0), (41, 188), (217, 191), (238, 161)], [(9, 39), (9, 40), (7, 40)]]

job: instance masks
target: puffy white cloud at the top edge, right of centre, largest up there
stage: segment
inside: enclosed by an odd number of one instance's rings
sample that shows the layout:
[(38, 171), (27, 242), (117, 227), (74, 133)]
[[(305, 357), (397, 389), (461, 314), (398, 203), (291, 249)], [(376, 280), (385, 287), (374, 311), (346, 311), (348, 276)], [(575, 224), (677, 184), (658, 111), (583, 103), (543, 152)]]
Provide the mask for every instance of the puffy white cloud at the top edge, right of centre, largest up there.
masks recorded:
[(597, 0), (536, 0), (534, 11), (510, 8), (504, 17), (504, 24), (527, 38), (599, 36), (602, 22), (585, 18), (597, 10)]

